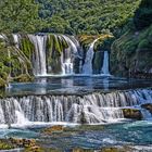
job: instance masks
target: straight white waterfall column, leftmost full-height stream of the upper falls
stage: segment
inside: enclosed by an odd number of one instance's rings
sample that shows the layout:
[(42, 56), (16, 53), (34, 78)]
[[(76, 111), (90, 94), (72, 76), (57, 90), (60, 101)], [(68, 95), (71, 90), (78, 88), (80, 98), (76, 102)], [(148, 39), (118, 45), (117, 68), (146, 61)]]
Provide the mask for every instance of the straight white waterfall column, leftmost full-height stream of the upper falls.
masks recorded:
[(47, 75), (47, 63), (46, 63), (46, 40), (47, 36), (28, 36), (35, 46), (35, 58), (34, 58), (34, 74), (45, 76)]

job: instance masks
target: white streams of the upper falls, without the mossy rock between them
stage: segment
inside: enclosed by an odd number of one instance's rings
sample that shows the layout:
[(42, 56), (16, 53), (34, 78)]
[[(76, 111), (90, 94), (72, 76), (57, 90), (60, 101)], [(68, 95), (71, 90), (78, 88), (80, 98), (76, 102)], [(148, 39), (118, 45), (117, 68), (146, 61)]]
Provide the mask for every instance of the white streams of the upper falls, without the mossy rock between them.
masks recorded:
[[(2, 38), (5, 38), (4, 35), (1, 35)], [(92, 60), (94, 56), (93, 47), (98, 41), (96, 39), (89, 47), (85, 63), (83, 65), (83, 50), (80, 49), (80, 45), (78, 40), (74, 36), (65, 36), (65, 35), (54, 35), (56, 41), (65, 40), (68, 45), (68, 48), (61, 52), (61, 56), (59, 61), (54, 61), (55, 65), (53, 68), (56, 68), (56, 72), (52, 72), (51, 64), (48, 64), (48, 55), (47, 55), (47, 39), (48, 35), (28, 35), (29, 40), (34, 43), (35, 52), (33, 54), (33, 72), (35, 76), (47, 76), (52, 74), (61, 74), (61, 75), (73, 75), (78, 74), (87, 74), (91, 75), (93, 72)], [(21, 35), (13, 34), (13, 39), (17, 49), (20, 49), (20, 41), (22, 39)], [(75, 60), (77, 59), (77, 60)], [(60, 65), (59, 65), (60, 64)], [(60, 68), (59, 68), (60, 67)], [(77, 69), (76, 69), (77, 68)], [(47, 72), (48, 69), (48, 72)], [(76, 71), (75, 71), (76, 69)], [(103, 66), (101, 68), (101, 74), (110, 75), (109, 72), (109, 52), (104, 51)]]

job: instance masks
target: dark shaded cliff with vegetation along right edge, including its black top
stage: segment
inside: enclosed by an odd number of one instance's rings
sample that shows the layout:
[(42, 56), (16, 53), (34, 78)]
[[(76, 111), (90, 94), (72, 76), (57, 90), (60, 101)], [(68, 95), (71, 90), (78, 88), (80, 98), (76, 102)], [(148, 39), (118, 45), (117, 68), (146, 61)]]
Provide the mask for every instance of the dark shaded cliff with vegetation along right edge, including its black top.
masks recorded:
[(150, 17), (151, 11), (152, 1), (142, 0), (134, 21), (126, 25), (125, 34), (113, 43), (111, 63), (114, 74), (150, 77), (149, 73), (152, 68), (152, 21), (147, 18)]

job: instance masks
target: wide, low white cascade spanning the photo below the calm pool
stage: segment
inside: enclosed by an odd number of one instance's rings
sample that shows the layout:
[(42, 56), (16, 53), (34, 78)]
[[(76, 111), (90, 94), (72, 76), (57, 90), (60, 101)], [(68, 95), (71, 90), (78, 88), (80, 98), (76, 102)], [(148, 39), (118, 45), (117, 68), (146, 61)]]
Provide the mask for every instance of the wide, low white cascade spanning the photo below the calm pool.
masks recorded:
[[(145, 94), (151, 100), (145, 99)], [(0, 124), (67, 122), (104, 124), (124, 119), (123, 107), (152, 103), (152, 90), (79, 96), (26, 96), (0, 99)]]

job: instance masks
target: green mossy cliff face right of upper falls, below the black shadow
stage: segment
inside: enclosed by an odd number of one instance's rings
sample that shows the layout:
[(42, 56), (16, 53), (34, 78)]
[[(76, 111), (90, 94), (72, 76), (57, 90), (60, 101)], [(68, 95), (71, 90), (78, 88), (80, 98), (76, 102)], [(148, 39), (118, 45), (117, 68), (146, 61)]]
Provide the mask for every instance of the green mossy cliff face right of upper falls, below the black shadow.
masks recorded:
[[(128, 30), (112, 45), (111, 69), (118, 76), (136, 76), (152, 67), (152, 26), (141, 31)], [(119, 71), (116, 71), (119, 68)]]

